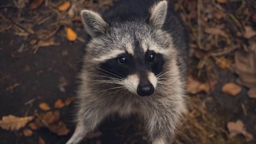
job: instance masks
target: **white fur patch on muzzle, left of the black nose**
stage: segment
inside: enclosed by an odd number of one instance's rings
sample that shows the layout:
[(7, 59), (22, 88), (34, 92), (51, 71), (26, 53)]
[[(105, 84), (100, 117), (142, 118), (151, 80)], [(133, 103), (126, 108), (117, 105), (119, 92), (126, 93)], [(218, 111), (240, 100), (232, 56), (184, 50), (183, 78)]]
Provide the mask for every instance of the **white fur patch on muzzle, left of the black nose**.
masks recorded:
[(127, 78), (125, 78), (124, 85), (127, 90), (129, 90), (134, 94), (137, 94), (137, 87), (139, 85), (139, 76), (136, 74), (129, 75)]

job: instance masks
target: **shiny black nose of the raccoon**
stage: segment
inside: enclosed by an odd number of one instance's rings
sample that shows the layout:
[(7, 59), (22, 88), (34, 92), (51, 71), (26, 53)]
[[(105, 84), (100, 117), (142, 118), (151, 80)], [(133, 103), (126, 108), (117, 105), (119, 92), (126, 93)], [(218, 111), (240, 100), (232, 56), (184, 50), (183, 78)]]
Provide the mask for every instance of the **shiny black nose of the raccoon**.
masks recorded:
[(137, 93), (142, 97), (149, 96), (153, 94), (154, 91), (155, 88), (151, 83), (139, 84), (137, 87)]

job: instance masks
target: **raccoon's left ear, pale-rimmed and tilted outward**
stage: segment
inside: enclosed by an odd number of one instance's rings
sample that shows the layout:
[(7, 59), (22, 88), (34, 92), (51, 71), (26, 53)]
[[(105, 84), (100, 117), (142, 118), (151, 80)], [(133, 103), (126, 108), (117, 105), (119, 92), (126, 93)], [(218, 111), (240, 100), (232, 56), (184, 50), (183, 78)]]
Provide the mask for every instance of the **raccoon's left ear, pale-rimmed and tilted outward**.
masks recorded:
[(104, 34), (108, 28), (108, 23), (103, 20), (99, 13), (90, 10), (81, 11), (84, 28), (91, 37)]

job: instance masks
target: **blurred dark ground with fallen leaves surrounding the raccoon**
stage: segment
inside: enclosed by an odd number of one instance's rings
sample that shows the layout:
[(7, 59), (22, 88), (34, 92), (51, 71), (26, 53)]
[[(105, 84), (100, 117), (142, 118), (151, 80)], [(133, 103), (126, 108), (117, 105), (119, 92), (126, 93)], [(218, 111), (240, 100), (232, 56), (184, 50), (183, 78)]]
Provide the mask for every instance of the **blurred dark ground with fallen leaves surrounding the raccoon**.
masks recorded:
[[(74, 132), (79, 11), (118, 0), (0, 1), (0, 143), (65, 143)], [(189, 113), (174, 143), (256, 143), (256, 1), (180, 0)], [(149, 143), (135, 117), (108, 118), (84, 143)]]

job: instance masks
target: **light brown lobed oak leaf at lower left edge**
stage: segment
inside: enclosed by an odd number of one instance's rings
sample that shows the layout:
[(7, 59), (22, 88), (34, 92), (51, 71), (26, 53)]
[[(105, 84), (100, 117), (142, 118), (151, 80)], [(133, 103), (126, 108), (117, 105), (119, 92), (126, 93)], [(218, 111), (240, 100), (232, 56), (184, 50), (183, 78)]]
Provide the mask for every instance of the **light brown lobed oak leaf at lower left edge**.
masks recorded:
[(26, 124), (31, 121), (34, 116), (28, 117), (17, 117), (13, 115), (3, 116), (0, 121), (0, 127), (4, 130), (18, 131), (21, 127), (26, 126)]

